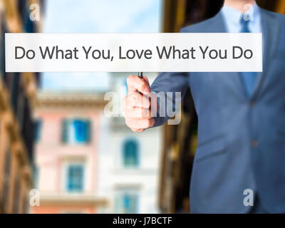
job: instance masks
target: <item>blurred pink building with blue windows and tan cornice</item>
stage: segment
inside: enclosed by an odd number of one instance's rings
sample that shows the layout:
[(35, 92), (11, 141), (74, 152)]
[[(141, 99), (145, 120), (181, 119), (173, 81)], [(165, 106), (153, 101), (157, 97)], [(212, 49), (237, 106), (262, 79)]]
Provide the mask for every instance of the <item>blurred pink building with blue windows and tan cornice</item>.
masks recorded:
[(98, 139), (103, 95), (47, 93), (36, 108), (35, 188), (40, 206), (33, 213), (95, 213), (98, 197)]

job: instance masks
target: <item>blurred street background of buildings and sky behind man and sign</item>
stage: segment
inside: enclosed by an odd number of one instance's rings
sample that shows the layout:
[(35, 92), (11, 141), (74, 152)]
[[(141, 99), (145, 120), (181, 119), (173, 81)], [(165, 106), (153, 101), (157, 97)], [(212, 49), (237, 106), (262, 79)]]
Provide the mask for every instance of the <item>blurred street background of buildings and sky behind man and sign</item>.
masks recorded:
[[(177, 32), (222, 4), (0, 0), (0, 213), (190, 212), (190, 92), (180, 125), (135, 134), (123, 118), (104, 115), (105, 93), (123, 98), (129, 73), (6, 73), (4, 33)], [(285, 0), (258, 4), (285, 14)]]

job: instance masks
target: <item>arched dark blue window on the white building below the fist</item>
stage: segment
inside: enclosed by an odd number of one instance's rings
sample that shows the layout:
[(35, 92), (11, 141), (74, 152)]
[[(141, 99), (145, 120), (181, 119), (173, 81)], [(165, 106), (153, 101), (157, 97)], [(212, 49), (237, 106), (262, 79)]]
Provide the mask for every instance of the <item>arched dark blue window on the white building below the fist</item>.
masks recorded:
[(125, 167), (138, 167), (138, 142), (128, 139), (123, 144), (123, 165)]

